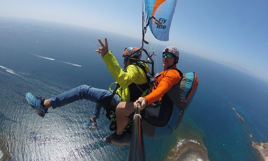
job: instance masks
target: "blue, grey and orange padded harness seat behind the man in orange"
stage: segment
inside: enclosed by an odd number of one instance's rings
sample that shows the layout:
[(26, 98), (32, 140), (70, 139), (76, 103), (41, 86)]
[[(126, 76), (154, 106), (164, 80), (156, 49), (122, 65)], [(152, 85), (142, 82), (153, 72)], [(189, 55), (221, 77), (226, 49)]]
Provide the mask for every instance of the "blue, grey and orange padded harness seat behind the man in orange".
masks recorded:
[[(181, 71), (177, 71), (181, 73)], [(173, 130), (177, 129), (185, 109), (189, 106), (196, 92), (197, 86), (198, 79), (196, 73), (185, 73), (180, 83), (173, 85), (164, 94), (159, 104), (150, 108), (145, 107), (141, 111), (143, 116), (141, 124), (144, 135), (152, 139), (160, 139), (170, 135)], [(153, 110), (154, 112), (152, 112)], [(156, 114), (155, 111), (161, 112), (161, 114)], [(152, 114), (154, 116), (151, 116)]]

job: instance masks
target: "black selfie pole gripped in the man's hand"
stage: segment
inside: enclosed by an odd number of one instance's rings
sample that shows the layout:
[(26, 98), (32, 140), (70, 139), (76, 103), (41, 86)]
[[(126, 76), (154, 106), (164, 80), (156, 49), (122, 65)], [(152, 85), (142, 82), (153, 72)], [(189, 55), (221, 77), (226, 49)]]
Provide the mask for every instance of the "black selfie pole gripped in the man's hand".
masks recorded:
[(143, 134), (141, 130), (140, 104), (137, 104), (134, 124), (132, 127), (132, 136), (128, 150), (128, 161), (145, 161), (145, 149), (143, 142)]

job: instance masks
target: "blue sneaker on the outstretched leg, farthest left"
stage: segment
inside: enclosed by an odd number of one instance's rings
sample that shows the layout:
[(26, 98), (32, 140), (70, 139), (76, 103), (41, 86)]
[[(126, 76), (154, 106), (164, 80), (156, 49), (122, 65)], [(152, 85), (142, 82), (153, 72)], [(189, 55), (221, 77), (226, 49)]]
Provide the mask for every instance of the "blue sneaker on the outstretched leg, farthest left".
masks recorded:
[(34, 97), (31, 93), (26, 93), (25, 96), (28, 104), (30, 104), (32, 106), (32, 108), (35, 109), (36, 113), (41, 116), (44, 117), (45, 114), (47, 113), (47, 108), (42, 107), (41, 103), (45, 100), (43, 99), (41, 96), (36, 96)]

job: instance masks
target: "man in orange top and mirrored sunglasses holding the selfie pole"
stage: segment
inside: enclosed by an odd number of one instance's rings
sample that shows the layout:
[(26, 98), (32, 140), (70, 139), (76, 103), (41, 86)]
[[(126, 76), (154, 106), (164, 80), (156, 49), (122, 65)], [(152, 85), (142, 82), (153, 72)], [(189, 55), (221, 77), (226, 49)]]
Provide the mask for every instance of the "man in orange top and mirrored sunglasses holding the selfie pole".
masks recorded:
[[(160, 101), (163, 95), (172, 88), (173, 85), (178, 84), (181, 79), (181, 75), (177, 72), (176, 64), (179, 61), (179, 51), (177, 48), (169, 46), (164, 49), (162, 53), (162, 61), (164, 71), (161, 73), (157, 73), (154, 78), (154, 84), (152, 88), (152, 92), (147, 96), (141, 96), (133, 102), (121, 102), (116, 107), (116, 131), (106, 136), (103, 141), (105, 143), (113, 143), (116, 145), (130, 145), (131, 133), (125, 132), (124, 127), (128, 123), (129, 116), (135, 111), (135, 107), (137, 103), (141, 104), (141, 109), (148, 104), (151, 104), (155, 101)], [(172, 70), (168, 70), (172, 69)], [(166, 110), (167, 108), (165, 108)], [(150, 111), (145, 114), (145, 117), (150, 116), (153, 112), (157, 113), (157, 115), (162, 114), (162, 111), (157, 111), (157, 108), (154, 108), (153, 111)], [(169, 117), (169, 116), (165, 116)]]

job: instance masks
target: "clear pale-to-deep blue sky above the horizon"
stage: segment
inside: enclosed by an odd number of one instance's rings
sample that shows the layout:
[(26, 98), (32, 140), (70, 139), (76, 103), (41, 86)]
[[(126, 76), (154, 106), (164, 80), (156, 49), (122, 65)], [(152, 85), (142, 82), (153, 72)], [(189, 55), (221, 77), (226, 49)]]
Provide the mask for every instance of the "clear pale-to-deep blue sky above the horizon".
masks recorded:
[[(0, 17), (101, 29), (141, 39), (142, 0), (0, 0)], [(0, 19), (1, 20), (1, 19)], [(166, 46), (268, 82), (267, 0), (178, 0)]]

